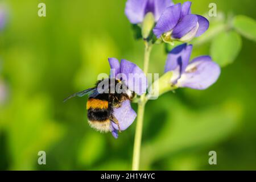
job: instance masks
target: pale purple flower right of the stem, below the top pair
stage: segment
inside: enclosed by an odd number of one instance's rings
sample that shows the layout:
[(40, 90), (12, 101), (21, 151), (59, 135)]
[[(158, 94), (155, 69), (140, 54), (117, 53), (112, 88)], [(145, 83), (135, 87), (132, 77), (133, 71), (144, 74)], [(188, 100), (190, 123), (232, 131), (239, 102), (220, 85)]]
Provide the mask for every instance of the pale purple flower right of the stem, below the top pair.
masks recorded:
[(181, 44), (168, 53), (164, 72), (172, 71), (171, 84), (177, 87), (207, 89), (220, 76), (220, 67), (210, 56), (199, 56), (189, 62), (192, 45)]

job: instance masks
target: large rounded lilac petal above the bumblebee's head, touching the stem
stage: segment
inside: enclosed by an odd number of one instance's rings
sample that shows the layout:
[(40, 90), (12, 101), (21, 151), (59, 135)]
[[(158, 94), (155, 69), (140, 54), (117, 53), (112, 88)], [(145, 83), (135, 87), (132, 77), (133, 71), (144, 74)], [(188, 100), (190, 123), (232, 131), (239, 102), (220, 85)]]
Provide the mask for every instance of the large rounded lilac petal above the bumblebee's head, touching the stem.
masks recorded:
[(126, 76), (122, 81), (128, 86), (129, 90), (134, 91), (138, 95), (146, 93), (147, 77), (142, 69), (136, 64), (122, 59), (120, 64), (120, 73)]

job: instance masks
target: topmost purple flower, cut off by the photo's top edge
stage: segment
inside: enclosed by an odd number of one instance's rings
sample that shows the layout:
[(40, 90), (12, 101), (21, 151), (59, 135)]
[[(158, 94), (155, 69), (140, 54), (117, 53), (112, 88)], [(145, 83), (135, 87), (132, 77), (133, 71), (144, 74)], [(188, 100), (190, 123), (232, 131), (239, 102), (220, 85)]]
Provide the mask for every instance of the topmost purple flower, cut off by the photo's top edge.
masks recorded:
[(171, 0), (128, 0), (125, 14), (133, 24), (142, 23), (147, 13), (152, 13), (157, 22), (163, 11), (172, 5)]

